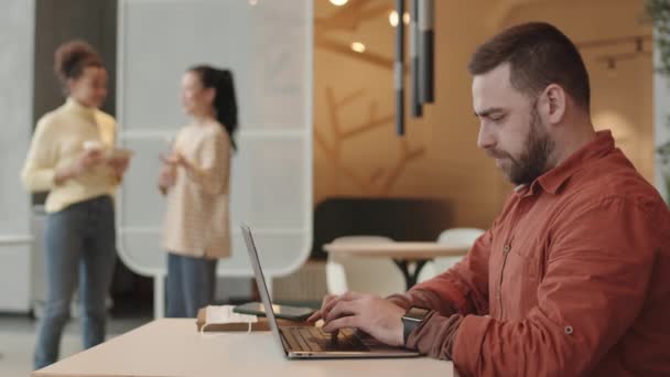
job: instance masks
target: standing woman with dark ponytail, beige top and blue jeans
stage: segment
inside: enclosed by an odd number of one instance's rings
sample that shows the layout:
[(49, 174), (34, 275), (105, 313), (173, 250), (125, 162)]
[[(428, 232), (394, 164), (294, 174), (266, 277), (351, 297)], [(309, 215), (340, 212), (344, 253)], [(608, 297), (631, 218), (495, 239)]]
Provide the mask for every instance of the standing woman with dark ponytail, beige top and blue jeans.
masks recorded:
[(229, 71), (198, 65), (182, 77), (191, 117), (163, 158), (159, 190), (166, 197), (162, 246), (168, 250), (166, 315), (195, 317), (214, 300), (216, 262), (230, 256), (230, 157), (237, 104)]

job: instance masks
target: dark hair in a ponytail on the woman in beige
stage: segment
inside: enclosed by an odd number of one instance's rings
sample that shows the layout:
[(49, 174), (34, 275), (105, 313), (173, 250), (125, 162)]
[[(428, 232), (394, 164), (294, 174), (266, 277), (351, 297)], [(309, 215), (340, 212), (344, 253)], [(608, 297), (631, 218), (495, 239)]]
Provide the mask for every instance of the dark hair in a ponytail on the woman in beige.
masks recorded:
[(229, 69), (217, 69), (209, 65), (197, 65), (188, 69), (196, 73), (203, 87), (215, 88), (214, 109), (216, 119), (228, 132), (233, 149), (237, 150), (234, 133), (237, 130), (237, 100), (235, 99), (235, 85), (233, 73)]

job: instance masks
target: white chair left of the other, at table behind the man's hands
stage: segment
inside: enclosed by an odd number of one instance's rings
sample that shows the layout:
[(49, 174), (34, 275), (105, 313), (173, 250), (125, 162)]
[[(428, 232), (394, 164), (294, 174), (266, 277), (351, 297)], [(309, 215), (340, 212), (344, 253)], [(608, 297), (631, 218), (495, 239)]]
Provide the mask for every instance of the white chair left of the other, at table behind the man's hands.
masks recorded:
[[(333, 244), (392, 241), (382, 236), (345, 236), (334, 239)], [(326, 286), (331, 294), (356, 291), (386, 297), (406, 290), (402, 272), (391, 259), (336, 254), (328, 254)]]

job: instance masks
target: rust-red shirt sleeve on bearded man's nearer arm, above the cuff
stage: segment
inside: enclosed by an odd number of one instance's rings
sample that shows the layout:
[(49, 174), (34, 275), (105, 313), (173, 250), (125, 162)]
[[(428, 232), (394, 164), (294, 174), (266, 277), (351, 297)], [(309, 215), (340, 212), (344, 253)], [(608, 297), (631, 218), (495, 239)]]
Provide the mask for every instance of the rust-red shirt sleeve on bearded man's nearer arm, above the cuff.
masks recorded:
[(648, 209), (614, 197), (565, 211), (548, 235), (538, 305), (527, 317), (469, 315), (461, 322), (453, 345), (461, 376), (588, 373), (641, 310), (661, 245), (655, 223), (668, 220)]

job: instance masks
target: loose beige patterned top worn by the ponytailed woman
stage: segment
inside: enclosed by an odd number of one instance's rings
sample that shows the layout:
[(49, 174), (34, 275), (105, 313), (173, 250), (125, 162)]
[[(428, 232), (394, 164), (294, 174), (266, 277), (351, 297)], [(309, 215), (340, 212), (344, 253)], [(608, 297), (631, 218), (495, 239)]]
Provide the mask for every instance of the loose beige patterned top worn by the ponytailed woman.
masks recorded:
[(176, 182), (166, 194), (162, 246), (192, 257), (230, 256), (228, 132), (217, 122), (186, 126), (173, 148), (195, 170), (176, 170)]

